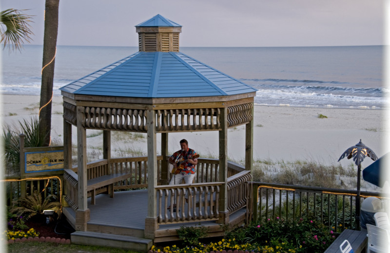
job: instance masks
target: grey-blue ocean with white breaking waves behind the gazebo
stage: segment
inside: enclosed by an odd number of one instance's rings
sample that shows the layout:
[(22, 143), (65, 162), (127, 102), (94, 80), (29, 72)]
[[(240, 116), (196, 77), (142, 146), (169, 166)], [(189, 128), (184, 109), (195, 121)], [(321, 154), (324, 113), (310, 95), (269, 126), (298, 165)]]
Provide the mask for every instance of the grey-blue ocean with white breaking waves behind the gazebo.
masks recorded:
[[(54, 93), (137, 47), (58, 46)], [(255, 103), (270, 106), (383, 108), (382, 46), (181, 47), (180, 51), (258, 89)], [(40, 94), (42, 46), (2, 52), (0, 92)]]

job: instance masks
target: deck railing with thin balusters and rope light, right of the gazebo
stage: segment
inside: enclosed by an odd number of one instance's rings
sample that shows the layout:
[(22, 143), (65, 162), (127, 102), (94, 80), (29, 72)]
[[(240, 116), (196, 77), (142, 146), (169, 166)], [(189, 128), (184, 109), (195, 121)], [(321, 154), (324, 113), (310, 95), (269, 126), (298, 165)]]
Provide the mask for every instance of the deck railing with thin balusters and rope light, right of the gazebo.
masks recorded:
[[(356, 191), (251, 182), (253, 187), (253, 220), (268, 218), (310, 218), (333, 229), (355, 229)], [(361, 192), (362, 199), (377, 197), (389, 204), (390, 196)], [(334, 228), (333, 228), (334, 227)]]

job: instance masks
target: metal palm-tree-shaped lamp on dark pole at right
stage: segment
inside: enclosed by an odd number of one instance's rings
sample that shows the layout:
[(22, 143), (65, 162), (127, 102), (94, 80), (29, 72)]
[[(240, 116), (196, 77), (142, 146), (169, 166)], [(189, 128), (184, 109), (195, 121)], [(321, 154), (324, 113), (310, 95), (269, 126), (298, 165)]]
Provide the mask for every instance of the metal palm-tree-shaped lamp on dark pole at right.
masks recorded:
[(347, 159), (353, 158), (353, 161), (357, 165), (357, 192), (356, 192), (356, 229), (359, 230), (360, 225), (360, 171), (362, 166), (360, 165), (363, 162), (366, 156), (370, 157), (373, 161), (377, 160), (378, 157), (375, 155), (374, 151), (372, 151), (368, 146), (362, 143), (362, 139), (360, 142), (354, 146), (348, 148), (338, 159), (339, 162), (341, 159), (347, 156)]

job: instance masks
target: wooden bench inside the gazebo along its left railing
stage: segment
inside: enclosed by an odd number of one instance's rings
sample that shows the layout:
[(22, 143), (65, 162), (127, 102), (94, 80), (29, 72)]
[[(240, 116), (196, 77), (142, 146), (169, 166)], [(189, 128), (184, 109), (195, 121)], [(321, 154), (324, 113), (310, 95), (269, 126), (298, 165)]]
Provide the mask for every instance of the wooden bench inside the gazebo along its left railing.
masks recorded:
[(96, 189), (107, 186), (108, 194), (114, 198), (114, 183), (130, 178), (130, 173), (104, 175), (87, 181), (87, 192), (91, 192), (91, 204), (95, 204)]

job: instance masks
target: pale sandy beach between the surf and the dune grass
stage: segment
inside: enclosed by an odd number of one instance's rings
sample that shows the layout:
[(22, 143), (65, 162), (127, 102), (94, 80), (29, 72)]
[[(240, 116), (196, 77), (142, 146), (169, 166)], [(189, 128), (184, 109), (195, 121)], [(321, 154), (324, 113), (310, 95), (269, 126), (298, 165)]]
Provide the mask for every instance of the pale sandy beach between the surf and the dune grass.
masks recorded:
[[(16, 125), (23, 119), (38, 117), (39, 96), (2, 95), (1, 113), (3, 125)], [(53, 98), (52, 139), (62, 145), (62, 97)], [(369, 146), (378, 157), (388, 150), (383, 145), (386, 135), (383, 109), (341, 109), (341, 108), (294, 108), (258, 106), (254, 108), (254, 160), (295, 161), (310, 160), (324, 164), (337, 163), (340, 155), (350, 146), (362, 142)], [(318, 118), (322, 114), (328, 118)], [(229, 129), (228, 157), (239, 161), (244, 157), (245, 126)], [(94, 136), (95, 130), (87, 130), (87, 145), (91, 149), (101, 147), (101, 135)], [(169, 135), (169, 150), (179, 148), (182, 138), (189, 141), (202, 156), (218, 154), (217, 132), (172, 133)], [(133, 149), (146, 153), (146, 138), (136, 138), (131, 143), (126, 138), (117, 138), (113, 153), (118, 155)], [(121, 140), (119, 140), (121, 139)], [(76, 143), (76, 128), (73, 129)], [(159, 143), (157, 143), (159, 145)], [(98, 151), (96, 151), (98, 152)], [(95, 153), (96, 153), (95, 152)], [(159, 152), (159, 151), (157, 151)], [(113, 155), (114, 155), (113, 154)], [(350, 164), (347, 159), (342, 164)], [(372, 163), (365, 159), (363, 167)]]

